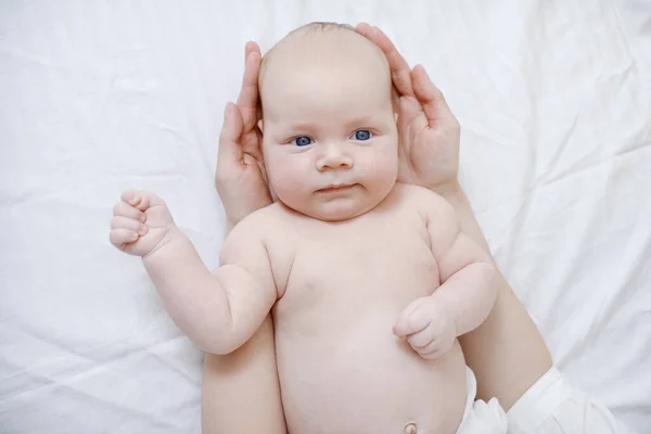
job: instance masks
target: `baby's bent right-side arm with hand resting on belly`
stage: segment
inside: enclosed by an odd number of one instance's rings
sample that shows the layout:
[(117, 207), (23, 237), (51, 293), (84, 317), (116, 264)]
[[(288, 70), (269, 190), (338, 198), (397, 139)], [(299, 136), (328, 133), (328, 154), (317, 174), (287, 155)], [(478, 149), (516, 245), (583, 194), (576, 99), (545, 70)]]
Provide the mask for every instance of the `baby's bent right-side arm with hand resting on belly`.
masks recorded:
[(442, 284), (407, 306), (394, 332), (407, 336), (421, 356), (436, 358), (484, 322), (497, 288), (490, 257), (461, 232), (454, 208), (437, 194), (427, 196), (425, 219)]

